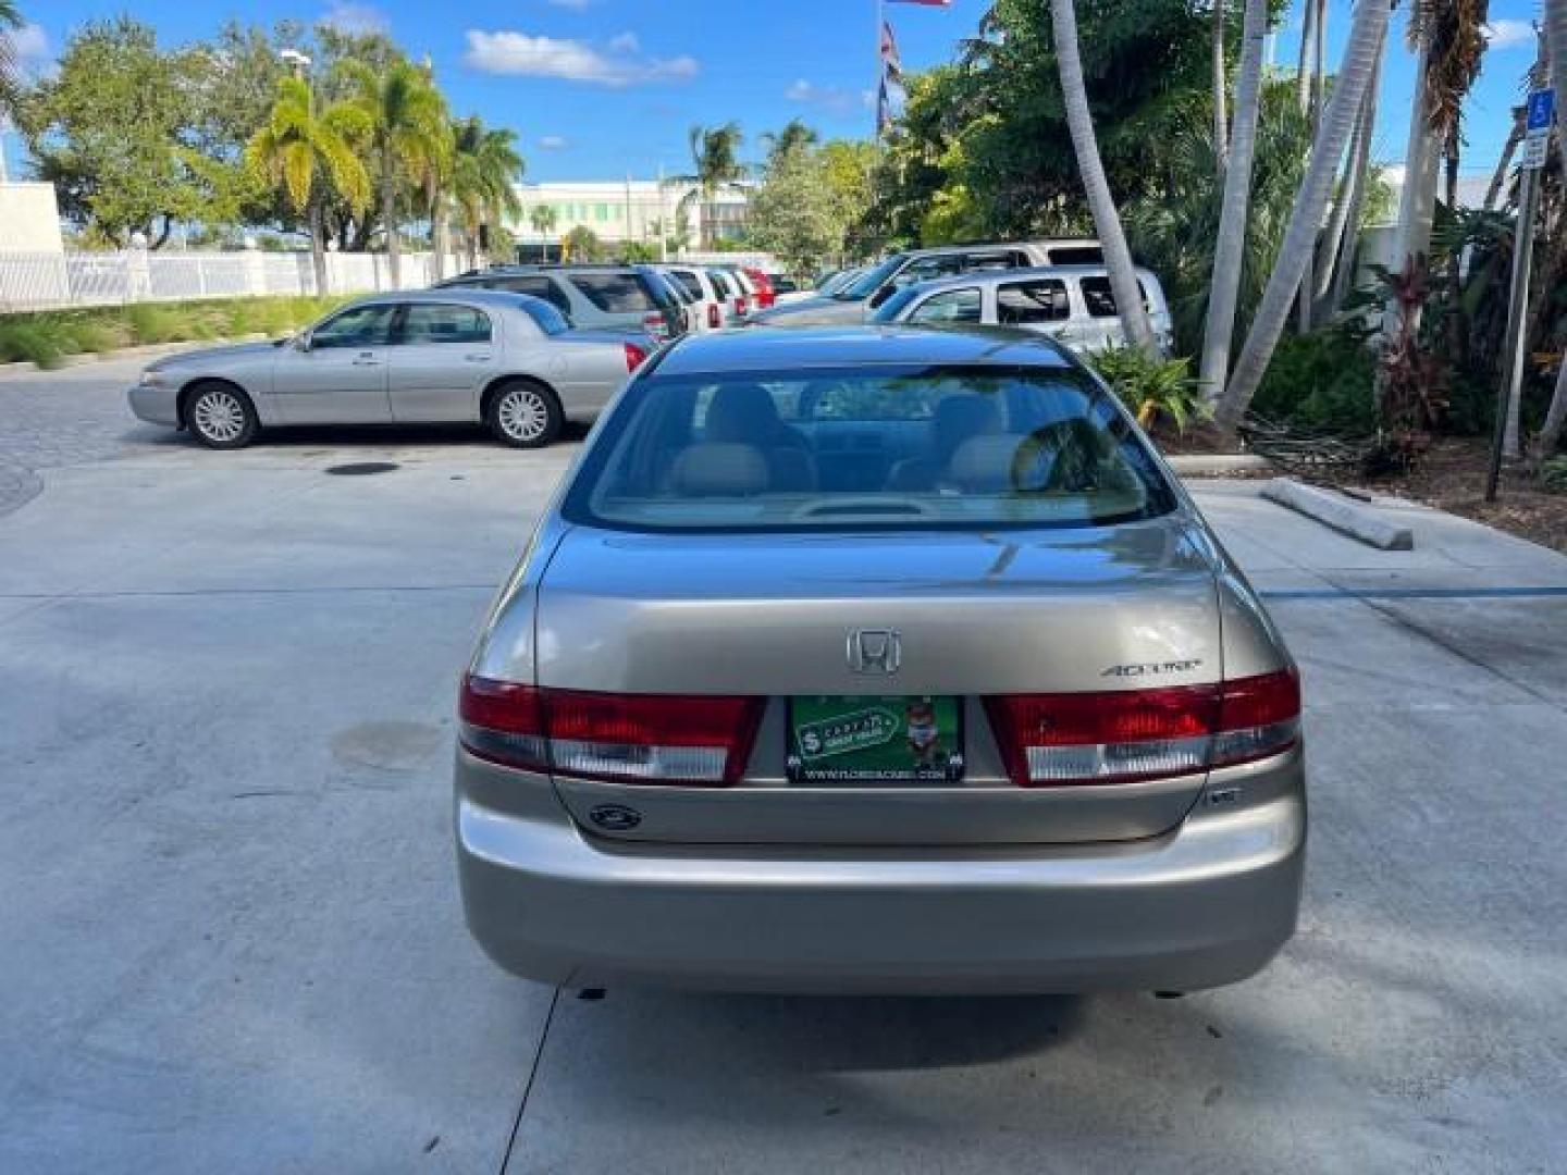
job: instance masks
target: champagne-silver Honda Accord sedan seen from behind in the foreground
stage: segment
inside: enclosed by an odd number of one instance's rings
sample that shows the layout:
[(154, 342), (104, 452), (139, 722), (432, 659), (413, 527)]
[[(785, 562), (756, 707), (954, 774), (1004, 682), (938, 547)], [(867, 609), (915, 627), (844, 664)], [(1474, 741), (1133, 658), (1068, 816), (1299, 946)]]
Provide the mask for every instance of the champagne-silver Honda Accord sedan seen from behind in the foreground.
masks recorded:
[(1045, 338), (664, 351), (500, 592), (459, 714), (469, 926), (544, 982), (1180, 992), (1296, 924), (1296, 667)]

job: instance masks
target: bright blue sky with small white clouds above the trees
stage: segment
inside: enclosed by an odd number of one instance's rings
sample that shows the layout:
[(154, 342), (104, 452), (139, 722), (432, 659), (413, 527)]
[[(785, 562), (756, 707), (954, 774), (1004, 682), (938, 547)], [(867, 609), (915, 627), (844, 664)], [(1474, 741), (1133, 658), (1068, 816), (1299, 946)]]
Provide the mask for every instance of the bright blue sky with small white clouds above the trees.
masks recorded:
[[(1401, 9), (1407, 9), (1407, 3)], [(888, 3), (904, 64), (951, 60), (984, 0), (950, 8)], [(1349, 0), (1330, 0), (1329, 60), (1349, 28)], [(1467, 172), (1489, 171), (1533, 60), (1539, 0), (1492, 0), (1496, 41), (1468, 107)], [(735, 118), (755, 136), (799, 116), (827, 136), (870, 133), (876, 81), (874, 0), (22, 0), (33, 24), (20, 50), (33, 67), (94, 17), (130, 13), (168, 44), (210, 36), (230, 16), (291, 17), (385, 28), (415, 56), (428, 53), (458, 113), (516, 128), (531, 180), (619, 179), (685, 169), (686, 130)], [(1404, 154), (1413, 60), (1399, 39), (1384, 67), (1374, 155)], [(1299, 13), (1277, 38), (1294, 63)], [(14, 146), (13, 146), (14, 154)]]

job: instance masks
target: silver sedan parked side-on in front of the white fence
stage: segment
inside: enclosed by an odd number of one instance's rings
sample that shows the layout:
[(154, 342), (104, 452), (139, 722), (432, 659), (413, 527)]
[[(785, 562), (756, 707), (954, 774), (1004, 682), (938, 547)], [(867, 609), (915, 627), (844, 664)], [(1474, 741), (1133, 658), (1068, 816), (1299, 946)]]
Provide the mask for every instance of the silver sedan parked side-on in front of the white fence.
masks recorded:
[(653, 349), (575, 331), (541, 298), (490, 290), (376, 295), (291, 338), (169, 356), (130, 390), (143, 420), (243, 448), (273, 425), (484, 423), (537, 448), (592, 420)]

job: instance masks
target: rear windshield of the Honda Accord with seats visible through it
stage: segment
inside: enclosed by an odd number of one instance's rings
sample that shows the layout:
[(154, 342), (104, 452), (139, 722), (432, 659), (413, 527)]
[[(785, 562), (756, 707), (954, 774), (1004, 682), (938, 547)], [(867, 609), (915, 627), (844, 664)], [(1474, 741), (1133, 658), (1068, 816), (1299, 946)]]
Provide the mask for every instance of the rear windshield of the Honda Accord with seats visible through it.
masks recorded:
[(754, 533), (1091, 526), (1174, 504), (1125, 414), (1080, 371), (859, 367), (636, 381), (563, 511)]

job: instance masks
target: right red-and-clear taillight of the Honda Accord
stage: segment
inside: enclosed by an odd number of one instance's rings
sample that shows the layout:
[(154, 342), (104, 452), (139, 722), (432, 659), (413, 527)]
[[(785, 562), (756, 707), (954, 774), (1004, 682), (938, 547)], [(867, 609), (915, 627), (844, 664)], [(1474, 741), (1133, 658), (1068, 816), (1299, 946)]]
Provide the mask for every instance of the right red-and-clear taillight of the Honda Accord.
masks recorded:
[(1130, 783), (1276, 755), (1299, 738), (1293, 669), (1222, 686), (986, 699), (1019, 786)]

